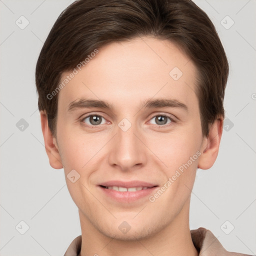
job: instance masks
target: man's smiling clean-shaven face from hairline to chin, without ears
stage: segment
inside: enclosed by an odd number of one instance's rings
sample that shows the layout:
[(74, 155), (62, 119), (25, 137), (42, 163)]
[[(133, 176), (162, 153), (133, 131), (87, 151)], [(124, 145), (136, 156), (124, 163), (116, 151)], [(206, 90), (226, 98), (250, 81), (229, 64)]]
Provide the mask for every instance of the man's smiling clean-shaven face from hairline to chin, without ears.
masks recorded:
[(196, 68), (151, 37), (98, 50), (58, 93), (56, 147), (81, 225), (147, 237), (188, 218), (204, 141)]

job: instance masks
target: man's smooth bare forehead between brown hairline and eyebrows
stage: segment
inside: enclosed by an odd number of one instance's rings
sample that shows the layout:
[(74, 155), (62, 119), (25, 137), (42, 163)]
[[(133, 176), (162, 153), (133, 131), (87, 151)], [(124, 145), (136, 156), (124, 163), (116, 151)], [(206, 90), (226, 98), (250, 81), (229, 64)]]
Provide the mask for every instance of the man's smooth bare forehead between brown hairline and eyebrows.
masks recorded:
[[(66, 110), (79, 98), (140, 103), (152, 97), (171, 97), (192, 103), (196, 68), (169, 40), (138, 37), (112, 42), (98, 49), (86, 65), (60, 90), (58, 106)], [(89, 60), (89, 61), (88, 61)], [(77, 63), (78, 64), (78, 63)], [(71, 70), (72, 71), (72, 70)], [(61, 80), (71, 71), (64, 72)]]

